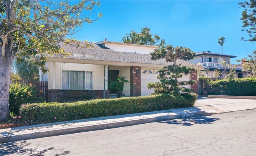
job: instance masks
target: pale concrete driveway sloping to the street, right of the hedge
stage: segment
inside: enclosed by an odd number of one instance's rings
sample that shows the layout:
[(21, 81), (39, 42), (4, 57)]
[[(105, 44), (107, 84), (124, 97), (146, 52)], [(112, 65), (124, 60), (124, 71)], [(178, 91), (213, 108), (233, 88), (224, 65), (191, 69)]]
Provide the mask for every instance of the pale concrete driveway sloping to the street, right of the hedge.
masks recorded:
[(220, 111), (239, 111), (245, 109), (255, 109), (256, 100), (252, 99), (223, 99), (223, 98), (206, 98), (198, 97), (195, 107), (211, 107)]

